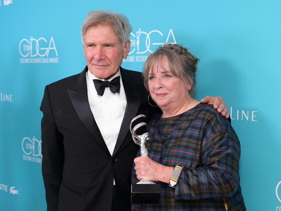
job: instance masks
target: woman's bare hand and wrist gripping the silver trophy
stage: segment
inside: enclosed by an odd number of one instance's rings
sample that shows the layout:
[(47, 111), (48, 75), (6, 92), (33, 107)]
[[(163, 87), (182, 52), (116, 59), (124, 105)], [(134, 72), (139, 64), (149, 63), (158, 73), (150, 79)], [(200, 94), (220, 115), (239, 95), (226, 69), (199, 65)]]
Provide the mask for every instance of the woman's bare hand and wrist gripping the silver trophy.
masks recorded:
[(148, 179), (153, 182), (170, 182), (170, 178), (174, 172), (174, 167), (164, 166), (151, 160), (147, 156), (140, 156), (134, 160), (136, 166), (136, 175), (140, 179)]

